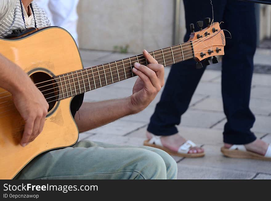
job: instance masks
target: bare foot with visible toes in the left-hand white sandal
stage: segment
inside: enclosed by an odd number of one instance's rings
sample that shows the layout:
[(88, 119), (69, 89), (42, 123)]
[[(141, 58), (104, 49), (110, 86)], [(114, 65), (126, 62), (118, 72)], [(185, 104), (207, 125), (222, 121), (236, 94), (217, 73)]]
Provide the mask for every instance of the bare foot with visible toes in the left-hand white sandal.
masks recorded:
[[(148, 139), (152, 139), (154, 134), (150, 132), (146, 132), (146, 136)], [(184, 139), (182, 136), (180, 136), (178, 133), (175, 135), (169, 135), (169, 136), (162, 136), (161, 137), (161, 143), (164, 147), (167, 147), (171, 149), (172, 151), (178, 151), (179, 147), (184, 144), (187, 140)], [(200, 147), (193, 147), (191, 148), (188, 153), (189, 154), (197, 154), (197, 153), (203, 153), (204, 149)]]

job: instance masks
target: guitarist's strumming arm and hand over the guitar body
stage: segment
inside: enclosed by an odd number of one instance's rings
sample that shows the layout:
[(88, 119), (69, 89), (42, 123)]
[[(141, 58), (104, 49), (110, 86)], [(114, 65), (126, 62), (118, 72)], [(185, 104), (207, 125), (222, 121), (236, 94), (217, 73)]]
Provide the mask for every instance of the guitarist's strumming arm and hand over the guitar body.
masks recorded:
[(28, 75), (1, 54), (0, 72), (0, 87), (12, 94), (13, 103), (26, 122), (21, 140), (24, 147), (41, 133), (49, 105)]

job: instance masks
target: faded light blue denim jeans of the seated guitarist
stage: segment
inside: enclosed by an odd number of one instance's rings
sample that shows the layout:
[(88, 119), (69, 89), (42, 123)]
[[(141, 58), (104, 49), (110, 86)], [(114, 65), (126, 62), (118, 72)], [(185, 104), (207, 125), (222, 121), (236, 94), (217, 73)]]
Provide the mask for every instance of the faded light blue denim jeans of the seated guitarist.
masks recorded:
[(177, 164), (166, 152), (82, 140), (31, 161), (16, 179), (176, 179)]

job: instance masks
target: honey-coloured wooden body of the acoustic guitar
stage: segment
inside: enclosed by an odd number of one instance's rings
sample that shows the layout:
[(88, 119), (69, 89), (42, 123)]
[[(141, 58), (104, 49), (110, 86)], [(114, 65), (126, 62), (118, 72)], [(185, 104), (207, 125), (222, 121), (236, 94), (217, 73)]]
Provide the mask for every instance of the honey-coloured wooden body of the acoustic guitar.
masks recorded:
[[(0, 53), (29, 75), (54, 76), (83, 69), (79, 50), (64, 29), (47, 27), (16, 39), (0, 39)], [(35, 81), (34, 81), (35, 82)], [(40, 82), (40, 81), (39, 81)], [(72, 146), (79, 132), (71, 115), (72, 98), (53, 102), (42, 133), (29, 145), (19, 143), (24, 120), (15, 109), (12, 96), (0, 88), (0, 179), (12, 179), (35, 156)]]

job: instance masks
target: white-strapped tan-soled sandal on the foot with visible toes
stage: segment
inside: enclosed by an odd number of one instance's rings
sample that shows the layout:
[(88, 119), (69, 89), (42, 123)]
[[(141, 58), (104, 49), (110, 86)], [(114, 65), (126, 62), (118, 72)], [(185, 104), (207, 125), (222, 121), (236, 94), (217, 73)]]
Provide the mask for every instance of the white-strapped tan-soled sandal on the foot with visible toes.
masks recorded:
[(196, 158), (196, 157), (203, 157), (205, 153), (188, 153), (189, 150), (193, 147), (196, 147), (196, 144), (193, 143), (191, 140), (187, 140), (184, 144), (182, 144), (178, 151), (172, 151), (167, 147), (164, 147), (161, 142), (161, 136), (153, 135), (152, 139), (147, 139), (144, 141), (144, 146), (149, 146), (149, 147), (155, 147), (158, 149), (161, 149), (165, 152), (167, 152), (170, 155), (176, 155), (180, 157), (191, 157), (191, 158)]

